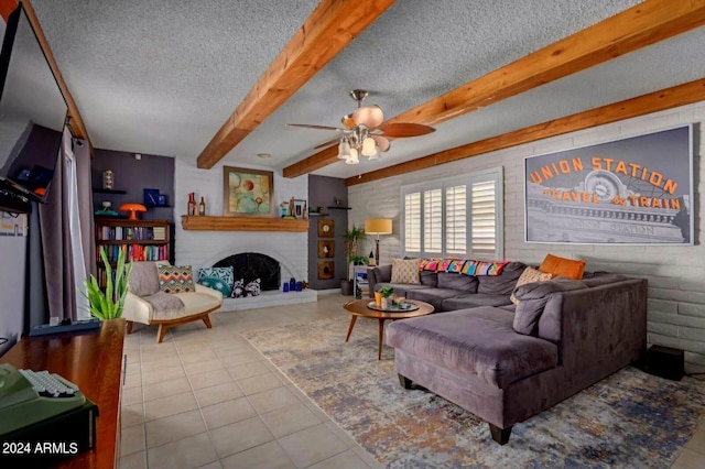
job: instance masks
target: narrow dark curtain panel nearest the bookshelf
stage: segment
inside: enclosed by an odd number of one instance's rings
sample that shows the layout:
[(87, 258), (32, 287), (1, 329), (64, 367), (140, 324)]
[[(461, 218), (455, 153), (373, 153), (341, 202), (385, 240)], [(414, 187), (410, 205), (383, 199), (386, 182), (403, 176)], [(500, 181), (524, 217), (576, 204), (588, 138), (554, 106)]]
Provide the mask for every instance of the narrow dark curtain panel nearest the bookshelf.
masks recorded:
[[(78, 184), (78, 216), (80, 218), (80, 240), (83, 243), (86, 276), (97, 274), (96, 239), (93, 232), (93, 181), (90, 176), (90, 149), (88, 144), (73, 139), (76, 179)], [(83, 287), (83, 285), (79, 285)]]

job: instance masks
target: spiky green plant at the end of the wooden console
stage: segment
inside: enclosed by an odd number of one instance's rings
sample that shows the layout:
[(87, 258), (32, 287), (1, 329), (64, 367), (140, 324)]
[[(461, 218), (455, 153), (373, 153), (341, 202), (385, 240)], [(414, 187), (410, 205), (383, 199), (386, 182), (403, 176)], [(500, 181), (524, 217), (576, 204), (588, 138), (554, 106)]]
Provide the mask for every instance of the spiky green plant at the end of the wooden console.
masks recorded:
[[(115, 319), (122, 316), (124, 307), (124, 296), (128, 293), (128, 280), (132, 273), (132, 263), (124, 266), (124, 250), (118, 252), (118, 263), (116, 265), (115, 280), (112, 277), (112, 266), (106, 253), (106, 247), (100, 248), (100, 259), (106, 268), (106, 290), (100, 290), (95, 275), (86, 279), (86, 293), (90, 314), (100, 320)], [(83, 293), (83, 292), (82, 292)]]

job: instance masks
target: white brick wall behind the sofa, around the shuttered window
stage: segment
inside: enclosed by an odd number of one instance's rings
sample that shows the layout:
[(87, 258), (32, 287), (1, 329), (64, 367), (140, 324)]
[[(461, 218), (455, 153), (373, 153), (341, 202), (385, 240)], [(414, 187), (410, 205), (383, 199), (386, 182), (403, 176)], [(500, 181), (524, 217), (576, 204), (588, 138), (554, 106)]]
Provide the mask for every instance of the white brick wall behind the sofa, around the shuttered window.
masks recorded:
[[(682, 123), (695, 127), (694, 151), (696, 187), (695, 241), (692, 247), (603, 247), (572, 244), (533, 244), (524, 238), (523, 157), (546, 152), (604, 143), (620, 138), (664, 130)], [(547, 252), (587, 260), (587, 270), (606, 270), (649, 280), (650, 343), (676, 347), (686, 351), (690, 369), (705, 367), (705, 247), (701, 232), (705, 219), (702, 194), (705, 166), (699, 164), (705, 149), (705, 101), (643, 116), (599, 128), (574, 132), (509, 150), (404, 174), (349, 188), (349, 222), (362, 223), (369, 217), (394, 219), (391, 236), (382, 238), (380, 257), (389, 263), (399, 255), (400, 187), (421, 181), (505, 167), (505, 257), (527, 263), (540, 263)]]

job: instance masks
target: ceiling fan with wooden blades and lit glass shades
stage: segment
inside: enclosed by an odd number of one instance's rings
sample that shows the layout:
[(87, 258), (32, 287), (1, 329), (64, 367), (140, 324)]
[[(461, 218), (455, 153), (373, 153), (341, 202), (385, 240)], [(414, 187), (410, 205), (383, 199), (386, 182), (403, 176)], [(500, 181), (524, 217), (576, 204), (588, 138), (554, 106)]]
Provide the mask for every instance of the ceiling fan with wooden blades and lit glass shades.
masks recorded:
[(335, 130), (341, 133), (341, 137), (315, 148), (322, 149), (338, 143), (338, 159), (345, 160), (347, 164), (358, 164), (360, 162), (359, 155), (367, 156), (369, 160), (379, 160), (380, 153), (387, 152), (391, 148), (389, 139), (425, 135), (435, 131), (434, 128), (421, 123), (382, 123), (384, 113), (379, 106), (361, 106), (367, 95), (368, 92), (365, 89), (350, 91), (350, 97), (357, 102), (357, 109), (352, 113), (343, 116), (343, 119), (340, 119), (341, 128), (307, 123), (288, 123), (288, 126), (304, 129)]

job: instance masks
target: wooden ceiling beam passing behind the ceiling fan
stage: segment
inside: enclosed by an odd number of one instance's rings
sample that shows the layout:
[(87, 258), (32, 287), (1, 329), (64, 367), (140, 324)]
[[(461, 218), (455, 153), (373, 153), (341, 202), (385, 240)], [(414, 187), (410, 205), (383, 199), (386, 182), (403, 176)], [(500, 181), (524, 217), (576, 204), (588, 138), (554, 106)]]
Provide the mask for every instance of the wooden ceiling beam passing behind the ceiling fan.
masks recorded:
[[(705, 0), (647, 0), (384, 123), (435, 126), (703, 24)], [(337, 161), (330, 151), (318, 152), (285, 167), (283, 175), (296, 177)]]

